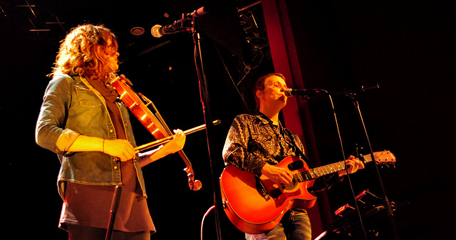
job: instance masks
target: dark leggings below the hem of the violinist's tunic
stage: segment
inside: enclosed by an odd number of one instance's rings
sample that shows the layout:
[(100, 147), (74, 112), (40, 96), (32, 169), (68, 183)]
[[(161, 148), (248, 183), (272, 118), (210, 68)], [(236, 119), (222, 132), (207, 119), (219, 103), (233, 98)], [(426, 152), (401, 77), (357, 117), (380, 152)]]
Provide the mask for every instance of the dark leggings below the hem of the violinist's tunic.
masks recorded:
[[(105, 240), (107, 229), (68, 224), (69, 240)], [(150, 240), (150, 231), (113, 231), (112, 240)]]

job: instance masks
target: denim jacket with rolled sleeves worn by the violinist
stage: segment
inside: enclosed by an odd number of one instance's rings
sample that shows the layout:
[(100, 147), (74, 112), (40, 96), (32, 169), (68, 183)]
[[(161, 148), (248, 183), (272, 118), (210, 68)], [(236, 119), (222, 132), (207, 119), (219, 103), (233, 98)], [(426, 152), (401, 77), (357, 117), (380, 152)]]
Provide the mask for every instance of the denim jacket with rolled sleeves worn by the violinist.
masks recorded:
[[(130, 125), (128, 109), (118, 102), (127, 139), (136, 147)], [(116, 138), (105, 98), (85, 78), (58, 75), (46, 88), (43, 105), (36, 123), (36, 143), (56, 152), (61, 162), (58, 174), (58, 191), (63, 198), (65, 182), (113, 186), (122, 184), (120, 162), (103, 152), (69, 152), (79, 135)], [(133, 160), (145, 194), (144, 178), (138, 155)]]

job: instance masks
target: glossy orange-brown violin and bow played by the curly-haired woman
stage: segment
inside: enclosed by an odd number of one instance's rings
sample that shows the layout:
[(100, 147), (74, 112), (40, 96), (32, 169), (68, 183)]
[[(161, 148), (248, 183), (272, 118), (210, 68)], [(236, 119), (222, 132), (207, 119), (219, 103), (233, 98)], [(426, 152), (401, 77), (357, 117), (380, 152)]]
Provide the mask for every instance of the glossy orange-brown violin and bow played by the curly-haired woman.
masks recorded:
[[(162, 144), (166, 141), (169, 142), (170, 140), (172, 140), (173, 134), (170, 128), (167, 127), (165, 121), (162, 120), (160, 113), (158, 113), (158, 110), (155, 108), (155, 105), (153, 105), (152, 101), (145, 98), (144, 95), (140, 93), (135, 93), (133, 88), (130, 87), (130, 85), (133, 84), (130, 82), (130, 80), (128, 80), (128, 78), (125, 78), (125, 75), (118, 76), (110, 82), (110, 85), (118, 92), (119, 99), (122, 100), (123, 103), (125, 103), (130, 112), (133, 113), (133, 115), (135, 115), (135, 117), (138, 118), (138, 120), (140, 120), (141, 124), (150, 132), (150, 134), (152, 134), (155, 137), (155, 139), (159, 141), (159, 144)], [(146, 103), (144, 103), (143, 100), (141, 100), (140, 96)], [(152, 113), (152, 111), (148, 108), (149, 105), (152, 105), (152, 107), (155, 110), (155, 114)], [(204, 129), (204, 127), (199, 126), (198, 130), (200, 129)], [(157, 144), (157, 141), (155, 142), (155, 144)], [(135, 150), (145, 150), (153, 146), (155, 145), (142, 145), (140, 147), (135, 148)], [(187, 172), (188, 184), (190, 189), (192, 189), (193, 191), (201, 189), (202, 183), (199, 182), (199, 180), (195, 180), (195, 173), (193, 172), (192, 164), (190, 163), (190, 160), (188, 160), (187, 155), (185, 155), (183, 150), (179, 151), (179, 155), (180, 157), (182, 157), (182, 160), (184, 160), (186, 165), (184, 171)]]

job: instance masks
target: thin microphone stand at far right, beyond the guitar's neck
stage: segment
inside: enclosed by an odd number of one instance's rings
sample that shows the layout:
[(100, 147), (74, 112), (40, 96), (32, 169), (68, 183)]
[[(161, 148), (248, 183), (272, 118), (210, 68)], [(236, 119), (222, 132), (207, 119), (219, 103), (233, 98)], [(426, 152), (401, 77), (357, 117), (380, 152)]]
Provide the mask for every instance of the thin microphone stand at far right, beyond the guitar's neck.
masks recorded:
[[(378, 88), (378, 85), (376, 86), (376, 88)], [(360, 91), (363, 92), (365, 89), (368, 89), (368, 88), (362, 87)], [(356, 95), (356, 93), (346, 93), (346, 96), (348, 98), (351, 98), (351, 100), (353, 101), (353, 105), (355, 106), (356, 112), (358, 113), (358, 118), (361, 122), (361, 126), (363, 127), (364, 137), (366, 137), (366, 141), (368, 143), (368, 147), (369, 147), (369, 151), (370, 151), (369, 153), (371, 154), (371, 156), (373, 158), (375, 158), (374, 157), (375, 155), (373, 154), (373, 150), (372, 150), (371, 141), (369, 140), (368, 132), (366, 130), (366, 125), (364, 125), (363, 115), (361, 114), (361, 109), (359, 107), (358, 96)], [(385, 187), (383, 187), (383, 182), (380, 177), (380, 172), (378, 171), (378, 167), (376, 164), (374, 164), (374, 166), (375, 166), (375, 173), (376, 173), (379, 185), (380, 185), (380, 192), (383, 195), (383, 202), (385, 204), (386, 214), (388, 216), (388, 220), (390, 221), (391, 230), (393, 231), (393, 237), (395, 240), (399, 240), (398, 230), (396, 229), (395, 221), (393, 219), (393, 208), (391, 207), (391, 203), (388, 200), (388, 197), (386, 196)]]

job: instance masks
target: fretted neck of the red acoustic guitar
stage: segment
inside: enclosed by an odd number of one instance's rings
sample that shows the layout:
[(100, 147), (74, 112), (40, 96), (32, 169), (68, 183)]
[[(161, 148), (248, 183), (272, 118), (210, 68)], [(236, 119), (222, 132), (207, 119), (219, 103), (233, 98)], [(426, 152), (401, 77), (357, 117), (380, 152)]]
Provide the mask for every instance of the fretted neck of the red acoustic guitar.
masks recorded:
[[(363, 159), (363, 162), (372, 162), (371, 155), (363, 155)], [(356, 160), (359, 160), (359, 158), (356, 157)], [(316, 179), (317, 177), (323, 177), (324, 175), (338, 172), (343, 169), (346, 169), (345, 161), (334, 162), (330, 165), (315, 167), (304, 172), (299, 172), (298, 174), (294, 174), (294, 178), (296, 178), (299, 182), (304, 182)]]

